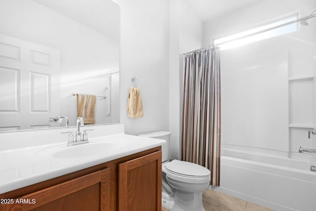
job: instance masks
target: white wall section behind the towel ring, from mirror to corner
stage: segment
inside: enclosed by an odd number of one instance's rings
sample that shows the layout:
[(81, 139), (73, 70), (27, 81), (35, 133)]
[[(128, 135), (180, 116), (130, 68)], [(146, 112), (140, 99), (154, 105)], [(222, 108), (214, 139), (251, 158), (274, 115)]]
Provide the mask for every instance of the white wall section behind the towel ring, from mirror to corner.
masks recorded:
[[(120, 6), (120, 122), (127, 134), (168, 130), (168, 0), (115, 0)], [(126, 112), (129, 79), (137, 77), (144, 117)]]

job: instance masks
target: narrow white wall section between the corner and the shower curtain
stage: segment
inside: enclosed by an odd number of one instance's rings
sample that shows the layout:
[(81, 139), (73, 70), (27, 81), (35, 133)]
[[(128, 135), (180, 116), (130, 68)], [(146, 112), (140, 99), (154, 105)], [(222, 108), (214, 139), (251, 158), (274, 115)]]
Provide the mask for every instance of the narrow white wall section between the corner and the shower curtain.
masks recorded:
[(184, 0), (169, 0), (169, 130), (171, 157), (181, 158), (183, 53), (202, 47), (202, 22)]

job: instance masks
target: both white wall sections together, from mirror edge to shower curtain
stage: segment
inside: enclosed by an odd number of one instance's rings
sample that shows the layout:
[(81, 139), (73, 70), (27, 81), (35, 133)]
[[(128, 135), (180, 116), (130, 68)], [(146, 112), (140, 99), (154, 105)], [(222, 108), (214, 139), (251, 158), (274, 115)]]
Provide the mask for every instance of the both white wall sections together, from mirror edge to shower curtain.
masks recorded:
[[(202, 22), (183, 0), (114, 1), (121, 11), (121, 123), (129, 134), (171, 131), (171, 156), (179, 158), (182, 55), (202, 46)], [(132, 76), (141, 84), (144, 117), (139, 119), (126, 113)]]

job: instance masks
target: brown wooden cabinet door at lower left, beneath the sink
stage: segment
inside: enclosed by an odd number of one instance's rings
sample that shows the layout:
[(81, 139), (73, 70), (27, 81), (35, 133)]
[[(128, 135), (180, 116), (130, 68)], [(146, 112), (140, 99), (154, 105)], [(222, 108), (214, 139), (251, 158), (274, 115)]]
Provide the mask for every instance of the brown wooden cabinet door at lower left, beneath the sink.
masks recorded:
[(110, 169), (14, 199), (0, 211), (110, 211)]

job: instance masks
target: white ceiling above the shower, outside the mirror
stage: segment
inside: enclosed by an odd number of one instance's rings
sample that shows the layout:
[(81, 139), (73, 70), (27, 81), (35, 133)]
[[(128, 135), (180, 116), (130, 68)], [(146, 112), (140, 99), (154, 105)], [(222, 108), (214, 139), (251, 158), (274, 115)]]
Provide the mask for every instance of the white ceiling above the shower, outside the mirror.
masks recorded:
[(258, 0), (187, 0), (202, 22), (255, 3)]

